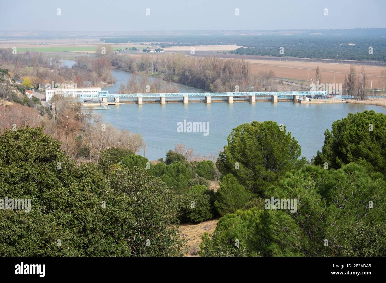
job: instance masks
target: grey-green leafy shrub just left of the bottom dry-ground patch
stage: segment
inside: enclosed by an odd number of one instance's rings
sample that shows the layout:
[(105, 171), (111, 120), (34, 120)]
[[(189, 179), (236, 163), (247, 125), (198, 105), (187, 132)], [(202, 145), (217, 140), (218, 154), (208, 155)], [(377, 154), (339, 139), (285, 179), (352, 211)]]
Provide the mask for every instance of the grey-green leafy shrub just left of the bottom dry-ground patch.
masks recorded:
[[(129, 199), (136, 228), (129, 230), (133, 255), (181, 256), (184, 241), (179, 235), (178, 197), (149, 170), (134, 167), (115, 171), (110, 187)], [(146, 240), (150, 246), (146, 246)]]

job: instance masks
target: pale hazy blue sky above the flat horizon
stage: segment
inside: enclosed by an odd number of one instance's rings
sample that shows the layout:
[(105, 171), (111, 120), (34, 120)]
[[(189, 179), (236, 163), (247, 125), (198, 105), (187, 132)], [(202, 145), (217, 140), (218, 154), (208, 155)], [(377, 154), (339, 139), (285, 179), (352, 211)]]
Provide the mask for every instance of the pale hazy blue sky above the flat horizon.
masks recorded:
[[(147, 8), (150, 16), (146, 16)], [(235, 15), (236, 8), (239, 16)], [(325, 8), (328, 8), (328, 16), (324, 15)], [(1, 30), (386, 27), (386, 0), (0, 0), (0, 10)]]

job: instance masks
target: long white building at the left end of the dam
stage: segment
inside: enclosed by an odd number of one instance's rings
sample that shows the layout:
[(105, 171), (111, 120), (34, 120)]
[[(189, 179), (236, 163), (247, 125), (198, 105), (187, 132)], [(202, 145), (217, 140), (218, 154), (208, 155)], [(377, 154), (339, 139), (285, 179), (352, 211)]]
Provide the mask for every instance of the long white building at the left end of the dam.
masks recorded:
[(56, 87), (56, 88), (46, 88), (46, 101), (50, 101), (54, 94), (63, 95), (64, 97), (72, 96), (78, 100), (87, 100), (98, 98), (98, 92), (102, 89), (100, 87), (76, 87), (76, 88), (67, 88), (67, 87)]

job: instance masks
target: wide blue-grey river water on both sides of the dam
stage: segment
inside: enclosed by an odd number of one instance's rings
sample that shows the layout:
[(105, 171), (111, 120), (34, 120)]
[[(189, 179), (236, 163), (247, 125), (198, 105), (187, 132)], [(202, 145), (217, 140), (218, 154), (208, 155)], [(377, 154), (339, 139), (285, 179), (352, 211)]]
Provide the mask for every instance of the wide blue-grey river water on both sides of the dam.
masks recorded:
[[(68, 60), (66, 60), (68, 61)], [(64, 62), (66, 62), (64, 61)], [(66, 65), (70, 65), (66, 63)], [(127, 83), (131, 74), (122, 70), (112, 70), (117, 79), (115, 86), (108, 87), (114, 93), (121, 82)], [(203, 92), (178, 84), (180, 92)], [(183, 88), (186, 89), (183, 89)], [(324, 131), (331, 129), (332, 122), (347, 117), (349, 113), (374, 110), (386, 114), (386, 108), (376, 105), (349, 103), (300, 104), (293, 102), (218, 102), (205, 103), (168, 103), (168, 104), (121, 104), (110, 105), (112, 109), (95, 110), (103, 115), (103, 121), (119, 129), (139, 133), (146, 142), (146, 157), (149, 160), (165, 159), (165, 153), (174, 149), (176, 144), (193, 148), (195, 154), (209, 156), (222, 150), (227, 144), (230, 131), (243, 123), (252, 121), (276, 121), (284, 124), (286, 130), (301, 146), (302, 156), (311, 159), (321, 150)], [(178, 132), (177, 123), (208, 122), (208, 135), (203, 133)], [(144, 151), (140, 154), (143, 156)]]

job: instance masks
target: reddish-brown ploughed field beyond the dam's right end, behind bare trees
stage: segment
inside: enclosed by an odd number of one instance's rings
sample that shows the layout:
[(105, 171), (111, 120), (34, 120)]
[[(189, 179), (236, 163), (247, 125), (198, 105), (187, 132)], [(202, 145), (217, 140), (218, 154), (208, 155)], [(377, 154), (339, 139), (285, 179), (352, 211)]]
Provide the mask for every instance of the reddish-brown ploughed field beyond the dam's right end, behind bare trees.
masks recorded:
[[(344, 84), (344, 75), (350, 70), (350, 65), (334, 64), (334, 63), (314, 63), (314, 62), (291, 62), (291, 61), (274, 61), (274, 60), (247, 60), (251, 63), (252, 73), (273, 70), (276, 77), (281, 77), (283, 70), (283, 78), (307, 81), (307, 73), (309, 80), (315, 79), (315, 70), (319, 66), (322, 74), (323, 83)], [(357, 74), (361, 73), (361, 66), (355, 66)], [(367, 74), (367, 87), (384, 88), (385, 82), (380, 77), (383, 67), (364, 66)]]

